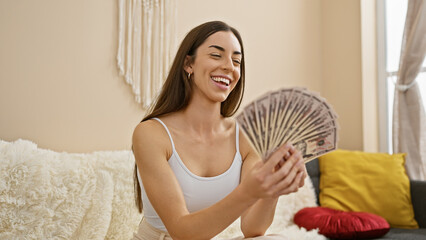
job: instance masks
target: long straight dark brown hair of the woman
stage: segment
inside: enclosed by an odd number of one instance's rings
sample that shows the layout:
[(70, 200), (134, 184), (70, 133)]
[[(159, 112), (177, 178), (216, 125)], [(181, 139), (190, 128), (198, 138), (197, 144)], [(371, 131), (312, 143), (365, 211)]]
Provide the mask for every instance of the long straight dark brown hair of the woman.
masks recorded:
[[(221, 21), (212, 21), (201, 24), (192, 29), (183, 39), (173, 61), (169, 75), (161, 89), (160, 95), (155, 102), (150, 106), (147, 115), (141, 122), (148, 119), (159, 117), (161, 115), (179, 111), (184, 109), (191, 98), (192, 89), (187, 73), (184, 71), (184, 64), (186, 56), (190, 56), (190, 61), (194, 61), (198, 47), (212, 34), (220, 31), (231, 31), (241, 46), (241, 64), (240, 79), (231, 91), (225, 101), (221, 103), (220, 114), (224, 117), (230, 117), (235, 114), (241, 104), (244, 95), (244, 47), (240, 33)], [(137, 167), (135, 163), (134, 170), (134, 188), (135, 188), (135, 201), (139, 212), (142, 212), (142, 197), (140, 183), (137, 177)]]

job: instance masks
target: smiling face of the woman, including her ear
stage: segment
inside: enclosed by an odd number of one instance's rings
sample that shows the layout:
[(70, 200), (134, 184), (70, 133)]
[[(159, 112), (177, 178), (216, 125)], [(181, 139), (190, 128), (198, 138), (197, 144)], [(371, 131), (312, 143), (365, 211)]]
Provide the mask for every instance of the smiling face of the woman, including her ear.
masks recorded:
[(195, 61), (185, 68), (192, 73), (194, 94), (223, 102), (240, 79), (242, 54), (232, 32), (216, 32), (200, 45)]

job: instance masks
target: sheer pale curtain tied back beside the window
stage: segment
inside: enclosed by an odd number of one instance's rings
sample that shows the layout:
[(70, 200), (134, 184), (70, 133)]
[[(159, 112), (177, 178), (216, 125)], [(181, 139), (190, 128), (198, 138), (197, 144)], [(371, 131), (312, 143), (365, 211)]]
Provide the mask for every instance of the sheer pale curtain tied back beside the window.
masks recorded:
[(405, 152), (410, 179), (426, 177), (426, 116), (416, 77), (426, 54), (426, 1), (409, 0), (393, 109), (393, 151)]

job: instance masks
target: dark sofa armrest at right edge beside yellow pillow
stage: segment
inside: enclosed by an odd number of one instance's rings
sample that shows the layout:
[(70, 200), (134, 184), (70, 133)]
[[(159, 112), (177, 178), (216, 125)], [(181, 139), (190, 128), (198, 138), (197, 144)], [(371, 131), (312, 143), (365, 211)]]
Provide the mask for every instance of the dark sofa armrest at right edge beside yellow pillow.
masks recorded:
[(410, 180), (414, 217), (420, 228), (426, 228), (426, 181)]

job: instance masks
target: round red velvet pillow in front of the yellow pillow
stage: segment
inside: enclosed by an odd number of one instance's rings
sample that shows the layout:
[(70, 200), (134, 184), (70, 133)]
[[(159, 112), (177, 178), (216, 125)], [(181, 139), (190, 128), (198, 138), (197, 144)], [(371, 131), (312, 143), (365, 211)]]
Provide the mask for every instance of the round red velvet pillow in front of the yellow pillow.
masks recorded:
[(344, 212), (326, 207), (301, 209), (294, 222), (307, 230), (319, 229), (328, 238), (377, 238), (389, 231), (389, 223), (380, 216), (366, 212)]

